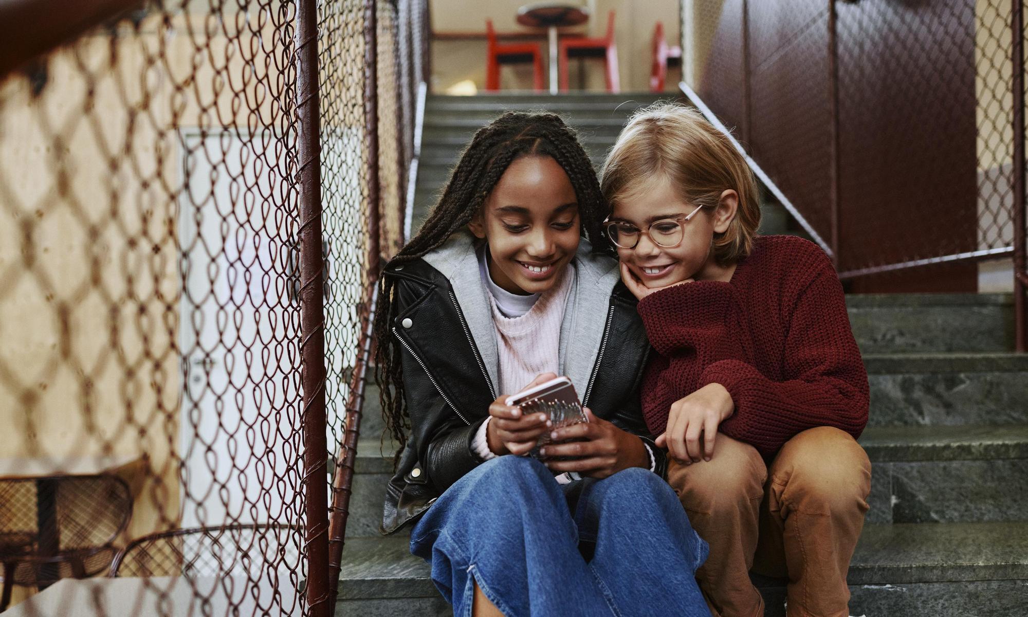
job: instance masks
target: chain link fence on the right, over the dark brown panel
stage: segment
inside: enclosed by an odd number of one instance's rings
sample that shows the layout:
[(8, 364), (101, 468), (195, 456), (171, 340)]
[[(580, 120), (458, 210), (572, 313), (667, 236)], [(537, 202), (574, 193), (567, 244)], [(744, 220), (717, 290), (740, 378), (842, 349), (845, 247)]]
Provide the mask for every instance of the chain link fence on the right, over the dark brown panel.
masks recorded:
[(684, 76), (844, 279), (1014, 257), (1024, 346), (1023, 12), (683, 0)]

